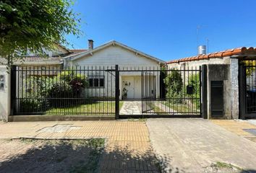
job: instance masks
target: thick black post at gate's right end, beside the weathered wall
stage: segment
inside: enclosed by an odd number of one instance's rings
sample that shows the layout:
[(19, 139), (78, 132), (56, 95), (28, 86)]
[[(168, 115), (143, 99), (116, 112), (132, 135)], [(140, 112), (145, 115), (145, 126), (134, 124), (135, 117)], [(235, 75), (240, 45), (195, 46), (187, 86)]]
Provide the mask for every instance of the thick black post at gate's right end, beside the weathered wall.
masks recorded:
[(202, 117), (208, 119), (207, 65), (202, 65)]

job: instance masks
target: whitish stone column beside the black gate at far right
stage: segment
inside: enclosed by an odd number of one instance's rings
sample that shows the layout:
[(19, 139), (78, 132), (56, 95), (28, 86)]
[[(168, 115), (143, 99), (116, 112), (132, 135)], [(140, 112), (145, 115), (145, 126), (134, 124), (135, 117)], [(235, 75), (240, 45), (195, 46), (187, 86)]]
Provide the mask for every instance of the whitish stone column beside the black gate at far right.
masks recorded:
[(230, 58), (231, 117), (239, 119), (239, 60)]

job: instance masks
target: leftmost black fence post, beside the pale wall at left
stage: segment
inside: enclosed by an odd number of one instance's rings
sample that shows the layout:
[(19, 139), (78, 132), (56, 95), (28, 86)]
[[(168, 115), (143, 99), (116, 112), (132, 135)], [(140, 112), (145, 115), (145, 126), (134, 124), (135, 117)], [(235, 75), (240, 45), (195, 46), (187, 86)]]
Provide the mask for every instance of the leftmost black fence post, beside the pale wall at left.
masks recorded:
[(14, 115), (16, 107), (16, 66), (11, 66), (11, 104), (10, 115)]

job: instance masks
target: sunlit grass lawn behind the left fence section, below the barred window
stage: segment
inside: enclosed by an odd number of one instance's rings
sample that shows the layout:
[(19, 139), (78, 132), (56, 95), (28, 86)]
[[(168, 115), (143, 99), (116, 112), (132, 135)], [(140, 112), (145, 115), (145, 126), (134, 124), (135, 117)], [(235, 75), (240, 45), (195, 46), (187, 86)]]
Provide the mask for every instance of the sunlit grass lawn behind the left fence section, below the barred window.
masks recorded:
[[(121, 109), (123, 102), (119, 102)], [(54, 107), (46, 111), (45, 115), (115, 115), (115, 102), (94, 102), (73, 107)]]

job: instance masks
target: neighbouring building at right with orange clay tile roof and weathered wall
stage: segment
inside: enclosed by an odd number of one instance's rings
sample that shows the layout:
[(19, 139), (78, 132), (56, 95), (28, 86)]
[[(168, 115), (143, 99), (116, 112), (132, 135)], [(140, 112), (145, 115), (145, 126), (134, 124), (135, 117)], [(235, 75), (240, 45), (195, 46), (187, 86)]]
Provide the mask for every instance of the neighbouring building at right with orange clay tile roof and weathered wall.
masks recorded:
[[(238, 119), (256, 117), (256, 105), (252, 100), (255, 96), (248, 94), (249, 88), (251, 92), (256, 91), (253, 91), (255, 61), (256, 48), (243, 47), (168, 61), (167, 66), (184, 69), (207, 65), (208, 117)], [(251, 65), (247, 66), (246, 62)], [(244, 68), (253, 72), (245, 74)]]

